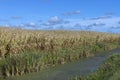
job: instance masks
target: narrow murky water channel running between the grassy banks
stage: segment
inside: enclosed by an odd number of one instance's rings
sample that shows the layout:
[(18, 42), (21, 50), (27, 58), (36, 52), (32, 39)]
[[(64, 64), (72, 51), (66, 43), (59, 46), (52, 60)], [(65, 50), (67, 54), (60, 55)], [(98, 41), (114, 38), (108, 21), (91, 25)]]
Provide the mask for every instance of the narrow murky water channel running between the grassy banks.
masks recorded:
[(74, 63), (59, 65), (41, 72), (16, 77), (12, 80), (69, 80), (76, 75), (89, 75), (96, 71), (110, 55), (120, 53), (120, 49), (99, 53), (94, 57), (76, 61)]

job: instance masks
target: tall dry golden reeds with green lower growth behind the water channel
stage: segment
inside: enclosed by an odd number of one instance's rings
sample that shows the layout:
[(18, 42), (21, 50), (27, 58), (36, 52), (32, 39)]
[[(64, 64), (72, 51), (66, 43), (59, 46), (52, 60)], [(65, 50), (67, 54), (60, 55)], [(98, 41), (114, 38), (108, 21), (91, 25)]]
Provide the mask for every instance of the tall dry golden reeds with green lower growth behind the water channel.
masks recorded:
[(0, 77), (37, 72), (119, 47), (120, 35), (0, 28)]

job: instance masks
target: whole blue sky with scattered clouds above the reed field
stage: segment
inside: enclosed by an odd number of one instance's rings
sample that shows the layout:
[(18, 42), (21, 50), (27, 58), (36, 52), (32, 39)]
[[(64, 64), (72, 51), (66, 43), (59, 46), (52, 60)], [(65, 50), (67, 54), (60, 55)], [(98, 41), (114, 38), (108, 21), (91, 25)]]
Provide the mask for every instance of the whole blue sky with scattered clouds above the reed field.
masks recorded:
[(120, 0), (0, 0), (0, 26), (120, 33)]

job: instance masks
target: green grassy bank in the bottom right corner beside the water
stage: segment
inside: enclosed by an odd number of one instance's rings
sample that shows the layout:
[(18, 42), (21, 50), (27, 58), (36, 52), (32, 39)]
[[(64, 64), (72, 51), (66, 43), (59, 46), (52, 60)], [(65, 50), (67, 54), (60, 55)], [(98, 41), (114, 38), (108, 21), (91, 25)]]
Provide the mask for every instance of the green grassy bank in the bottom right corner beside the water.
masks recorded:
[(120, 54), (110, 57), (95, 73), (72, 80), (120, 80)]

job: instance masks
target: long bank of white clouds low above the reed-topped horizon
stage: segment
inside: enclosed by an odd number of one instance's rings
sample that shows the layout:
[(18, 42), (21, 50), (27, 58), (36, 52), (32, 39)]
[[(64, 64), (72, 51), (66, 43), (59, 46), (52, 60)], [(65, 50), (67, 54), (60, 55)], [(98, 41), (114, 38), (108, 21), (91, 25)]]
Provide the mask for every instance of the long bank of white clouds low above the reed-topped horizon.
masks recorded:
[[(10, 26), (10, 25), (9, 25)], [(63, 29), (63, 30), (94, 30), (101, 32), (120, 33), (120, 17), (101, 16), (96, 19), (61, 19), (58, 16), (51, 17), (47, 21), (36, 23), (29, 22), (16, 26), (25, 29)]]

